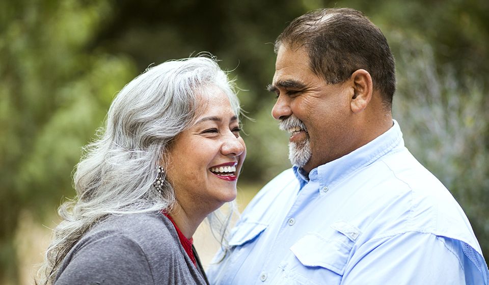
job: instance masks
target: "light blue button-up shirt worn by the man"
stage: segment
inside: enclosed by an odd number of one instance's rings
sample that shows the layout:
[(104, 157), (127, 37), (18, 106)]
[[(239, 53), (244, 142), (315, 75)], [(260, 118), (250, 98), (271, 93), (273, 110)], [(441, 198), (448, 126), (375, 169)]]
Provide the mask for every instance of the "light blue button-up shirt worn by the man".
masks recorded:
[(395, 121), (308, 177), (285, 170), (229, 244), (207, 271), (211, 284), (487, 284), (489, 275), (463, 210)]

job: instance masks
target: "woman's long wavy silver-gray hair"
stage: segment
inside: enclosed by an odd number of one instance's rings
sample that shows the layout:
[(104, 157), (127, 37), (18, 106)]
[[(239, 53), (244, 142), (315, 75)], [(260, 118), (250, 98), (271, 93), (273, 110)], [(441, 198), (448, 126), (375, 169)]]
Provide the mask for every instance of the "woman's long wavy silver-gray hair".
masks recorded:
[[(76, 166), (76, 198), (58, 210), (63, 221), (53, 230), (38, 271), (40, 283), (53, 283), (66, 254), (95, 223), (110, 215), (173, 207), (176, 200), (168, 180), (161, 194), (153, 188), (157, 166), (167, 161), (162, 158), (168, 155), (175, 136), (195, 121), (196, 94), (208, 87), (227, 94), (236, 115), (240, 113), (234, 83), (212, 57), (169, 61), (148, 68), (120, 91), (108, 110), (106, 127), (84, 148), (84, 156)], [(234, 204), (230, 209), (236, 209)], [(232, 212), (214, 211), (207, 217), (214, 237), (225, 248)]]

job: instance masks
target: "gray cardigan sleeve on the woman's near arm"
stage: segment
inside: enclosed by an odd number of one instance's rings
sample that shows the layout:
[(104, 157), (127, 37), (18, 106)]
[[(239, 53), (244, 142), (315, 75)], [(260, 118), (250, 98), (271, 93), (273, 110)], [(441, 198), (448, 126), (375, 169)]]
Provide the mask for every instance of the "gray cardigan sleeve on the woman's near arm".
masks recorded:
[(77, 249), (55, 284), (154, 284), (152, 278), (141, 247), (125, 236), (111, 235)]

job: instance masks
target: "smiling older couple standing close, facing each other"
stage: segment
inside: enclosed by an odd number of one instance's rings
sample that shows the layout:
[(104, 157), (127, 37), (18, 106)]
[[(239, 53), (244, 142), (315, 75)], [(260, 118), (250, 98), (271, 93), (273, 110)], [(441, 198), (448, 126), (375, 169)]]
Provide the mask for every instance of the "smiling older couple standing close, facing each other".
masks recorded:
[[(239, 102), (213, 59), (152, 67), (127, 84), (76, 167), (40, 284), (487, 284), (450, 192), (404, 147), (392, 119), (394, 59), (361, 12), (322, 9), (276, 41), (271, 110), (293, 167), (229, 235), (246, 156)], [(192, 243), (223, 237), (204, 272)]]

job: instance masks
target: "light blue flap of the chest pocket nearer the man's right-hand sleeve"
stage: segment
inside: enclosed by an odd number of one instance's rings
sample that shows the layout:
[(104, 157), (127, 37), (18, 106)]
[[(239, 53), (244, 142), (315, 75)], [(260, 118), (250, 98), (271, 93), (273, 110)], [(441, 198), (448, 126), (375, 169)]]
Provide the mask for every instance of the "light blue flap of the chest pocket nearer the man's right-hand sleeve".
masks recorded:
[(306, 267), (322, 267), (343, 275), (352, 246), (353, 243), (343, 235), (325, 239), (312, 233), (298, 240), (290, 250)]

